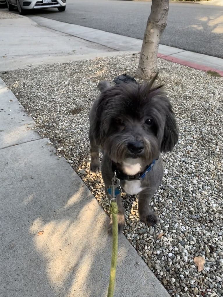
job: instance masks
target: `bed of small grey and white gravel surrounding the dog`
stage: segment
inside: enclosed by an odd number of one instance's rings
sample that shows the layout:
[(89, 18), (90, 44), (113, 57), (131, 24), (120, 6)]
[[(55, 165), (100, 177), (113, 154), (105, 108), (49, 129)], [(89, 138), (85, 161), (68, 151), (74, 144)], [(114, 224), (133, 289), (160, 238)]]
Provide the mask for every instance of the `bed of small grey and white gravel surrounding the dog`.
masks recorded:
[[(1, 73), (15, 96), (108, 211), (100, 174), (89, 173), (88, 113), (100, 80), (134, 75), (138, 55)], [(170, 295), (223, 296), (223, 80), (158, 60), (180, 131), (164, 154), (164, 178), (152, 199), (156, 228), (139, 221), (137, 196), (124, 196), (124, 234)], [(163, 233), (163, 234), (161, 234)], [(198, 272), (194, 257), (205, 258)]]

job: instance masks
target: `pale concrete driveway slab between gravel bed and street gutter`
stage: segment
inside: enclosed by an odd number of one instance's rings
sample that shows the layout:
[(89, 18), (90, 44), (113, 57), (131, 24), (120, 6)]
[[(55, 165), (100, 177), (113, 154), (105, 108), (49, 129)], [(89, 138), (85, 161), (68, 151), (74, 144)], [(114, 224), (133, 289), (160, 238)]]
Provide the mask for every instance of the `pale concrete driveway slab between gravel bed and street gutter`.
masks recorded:
[(70, 34), (39, 26), (30, 18), (1, 10), (0, 71), (103, 56), (114, 51)]

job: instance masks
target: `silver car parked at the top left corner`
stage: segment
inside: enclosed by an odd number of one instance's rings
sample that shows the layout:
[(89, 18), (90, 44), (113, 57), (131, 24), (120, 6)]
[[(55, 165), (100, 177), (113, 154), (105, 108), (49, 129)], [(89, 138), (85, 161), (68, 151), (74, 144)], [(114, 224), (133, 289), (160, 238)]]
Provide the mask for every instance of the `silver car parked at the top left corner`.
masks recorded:
[(21, 15), (26, 14), (30, 9), (57, 8), (59, 11), (66, 9), (66, 0), (6, 0), (6, 4), (9, 10), (17, 7)]

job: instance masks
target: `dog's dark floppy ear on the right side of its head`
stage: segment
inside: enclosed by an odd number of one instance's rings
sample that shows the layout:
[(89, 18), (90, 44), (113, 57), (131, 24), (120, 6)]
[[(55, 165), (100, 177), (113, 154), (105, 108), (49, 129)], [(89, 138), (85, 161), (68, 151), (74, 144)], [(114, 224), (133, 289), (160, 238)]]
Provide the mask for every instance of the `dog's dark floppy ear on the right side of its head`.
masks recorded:
[(168, 107), (166, 115), (166, 122), (164, 127), (163, 139), (161, 142), (161, 152), (167, 153), (172, 151), (174, 146), (178, 143), (178, 128), (175, 115), (172, 111), (171, 105)]

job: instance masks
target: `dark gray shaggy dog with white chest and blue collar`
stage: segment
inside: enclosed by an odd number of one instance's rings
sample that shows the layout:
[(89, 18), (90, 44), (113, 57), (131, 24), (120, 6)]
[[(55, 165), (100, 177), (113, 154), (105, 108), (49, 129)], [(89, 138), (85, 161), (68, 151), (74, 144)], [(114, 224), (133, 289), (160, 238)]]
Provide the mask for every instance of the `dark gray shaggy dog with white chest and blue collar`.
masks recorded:
[[(116, 170), (122, 192), (139, 194), (139, 217), (149, 226), (158, 222), (149, 203), (163, 177), (161, 153), (172, 151), (178, 142), (175, 116), (163, 85), (153, 87), (156, 76), (144, 84), (129, 75), (115, 78), (114, 86), (107, 81), (99, 83), (101, 93), (89, 116), (90, 170), (100, 171), (101, 149), (107, 197), (111, 198), (107, 189)], [(120, 231), (125, 224), (121, 194), (117, 204)]]

